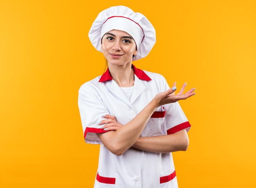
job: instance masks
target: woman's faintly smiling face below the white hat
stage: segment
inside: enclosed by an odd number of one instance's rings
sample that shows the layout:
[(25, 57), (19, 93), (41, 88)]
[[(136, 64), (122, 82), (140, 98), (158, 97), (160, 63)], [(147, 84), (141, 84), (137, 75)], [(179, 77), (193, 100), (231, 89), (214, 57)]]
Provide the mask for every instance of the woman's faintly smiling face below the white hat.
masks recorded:
[(125, 31), (112, 30), (102, 37), (101, 50), (113, 65), (125, 65), (132, 62), (133, 55), (137, 54), (135, 41)]

